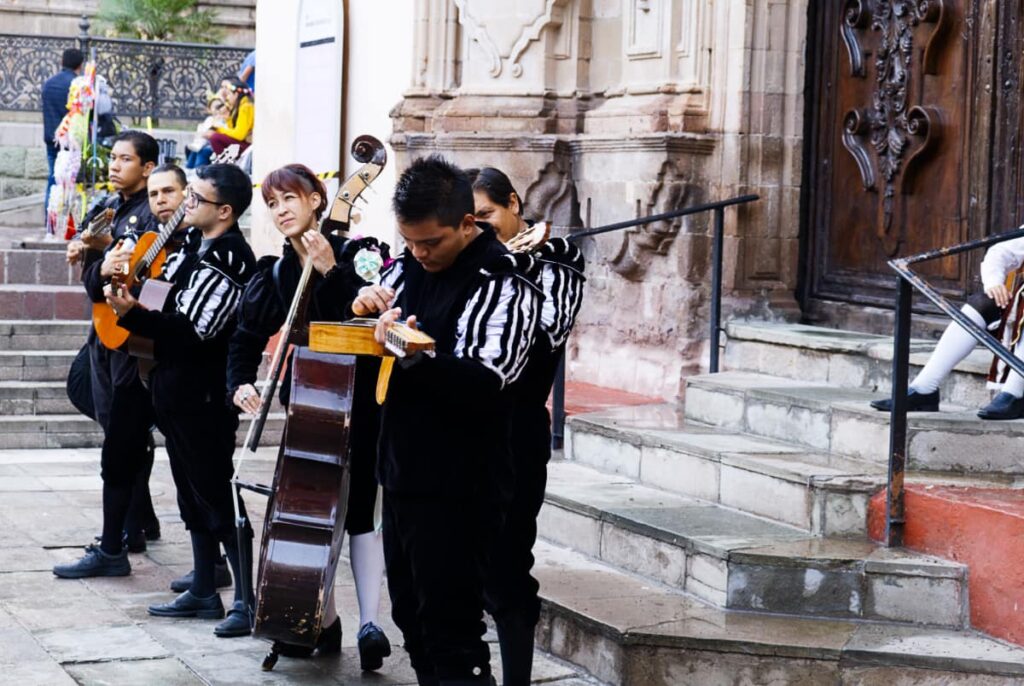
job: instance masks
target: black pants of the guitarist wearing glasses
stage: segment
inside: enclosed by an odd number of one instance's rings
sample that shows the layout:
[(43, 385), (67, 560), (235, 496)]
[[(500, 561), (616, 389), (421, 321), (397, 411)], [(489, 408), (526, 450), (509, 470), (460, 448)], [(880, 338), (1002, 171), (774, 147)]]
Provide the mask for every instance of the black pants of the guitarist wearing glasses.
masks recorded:
[[(155, 399), (157, 426), (167, 439), (171, 475), (185, 528), (230, 541), (234, 535), (231, 457), (238, 415), (219, 396), (191, 403)], [(241, 497), (239, 506), (245, 516)]]

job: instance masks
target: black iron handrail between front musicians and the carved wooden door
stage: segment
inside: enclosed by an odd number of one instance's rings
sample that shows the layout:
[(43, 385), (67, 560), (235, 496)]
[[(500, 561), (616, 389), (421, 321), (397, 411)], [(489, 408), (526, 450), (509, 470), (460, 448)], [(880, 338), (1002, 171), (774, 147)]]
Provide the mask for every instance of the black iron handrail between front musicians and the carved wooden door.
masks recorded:
[[(711, 263), (711, 312), (709, 316), (709, 359), (708, 371), (712, 374), (718, 372), (720, 343), (719, 335), (722, 332), (722, 244), (725, 239), (725, 208), (733, 205), (743, 205), (760, 200), (760, 196), (737, 196), (728, 200), (720, 200), (715, 203), (703, 205), (693, 205), (662, 214), (652, 214), (647, 217), (620, 221), (614, 224), (606, 224), (595, 228), (574, 230), (566, 237), (573, 243), (591, 235), (599, 235), (610, 231), (618, 231), (624, 228), (642, 226), (643, 224), (685, 217), (691, 214), (702, 212), (715, 213), (715, 226), (712, 234), (712, 263)], [(558, 449), (562, 447), (565, 437), (565, 358), (562, 357), (555, 374), (555, 385), (551, 395), (551, 444)]]

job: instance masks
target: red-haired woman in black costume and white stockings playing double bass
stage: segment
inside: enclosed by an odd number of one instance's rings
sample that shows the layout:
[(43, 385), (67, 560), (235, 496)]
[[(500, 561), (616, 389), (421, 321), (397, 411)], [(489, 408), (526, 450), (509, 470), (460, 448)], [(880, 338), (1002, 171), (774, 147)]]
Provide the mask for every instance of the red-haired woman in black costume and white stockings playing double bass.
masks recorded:
[[(351, 303), (359, 288), (367, 285), (355, 274), (352, 259), (361, 249), (379, 249), (374, 239), (349, 240), (317, 230), (327, 208), (324, 183), (306, 166), (291, 164), (270, 172), (260, 186), (274, 226), (285, 237), (282, 257), (267, 255), (256, 264), (239, 308), (239, 326), (231, 337), (227, 366), (227, 388), (231, 400), (244, 412), (260, 410), (256, 391), (257, 369), (267, 341), (281, 331), (295, 296), (305, 260), (313, 262), (311, 298), (307, 317), (314, 321), (342, 321), (351, 317)], [(386, 251), (386, 246), (384, 246)], [(364, 670), (377, 670), (391, 654), (391, 645), (377, 626), (381, 584), (384, 578), (384, 549), (374, 530), (374, 503), (377, 480), (377, 433), (380, 411), (375, 400), (380, 362), (369, 357), (356, 361), (350, 438), (348, 508), (345, 531), (349, 559), (359, 604), (357, 635), (359, 662)], [(291, 360), (281, 386), (281, 401), (288, 403)], [(333, 589), (331, 590), (333, 594)], [(319, 653), (337, 652), (341, 647), (341, 619), (333, 598), (326, 602), (327, 613), (317, 646)], [(311, 650), (285, 646), (281, 654), (305, 656)]]

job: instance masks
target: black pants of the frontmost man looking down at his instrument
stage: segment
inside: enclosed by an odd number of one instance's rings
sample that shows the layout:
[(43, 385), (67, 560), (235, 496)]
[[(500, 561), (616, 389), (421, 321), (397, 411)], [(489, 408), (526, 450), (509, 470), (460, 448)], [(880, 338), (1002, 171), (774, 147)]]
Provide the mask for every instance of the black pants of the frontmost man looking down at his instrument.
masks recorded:
[(441, 680), (490, 674), (483, 573), (499, 520), (493, 503), (385, 489), (391, 616), (417, 672)]

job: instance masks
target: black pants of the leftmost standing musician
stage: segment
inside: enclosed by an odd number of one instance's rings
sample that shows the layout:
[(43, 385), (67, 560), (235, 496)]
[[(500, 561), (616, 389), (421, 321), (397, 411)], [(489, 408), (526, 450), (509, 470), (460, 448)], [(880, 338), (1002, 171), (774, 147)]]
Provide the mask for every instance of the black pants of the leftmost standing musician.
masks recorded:
[(132, 489), (124, 527), (134, 533), (157, 521), (150, 496), (153, 401), (138, 378), (137, 360), (108, 350), (95, 334), (89, 340), (89, 362), (96, 421), (103, 429), (100, 476), (114, 487)]

